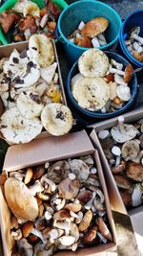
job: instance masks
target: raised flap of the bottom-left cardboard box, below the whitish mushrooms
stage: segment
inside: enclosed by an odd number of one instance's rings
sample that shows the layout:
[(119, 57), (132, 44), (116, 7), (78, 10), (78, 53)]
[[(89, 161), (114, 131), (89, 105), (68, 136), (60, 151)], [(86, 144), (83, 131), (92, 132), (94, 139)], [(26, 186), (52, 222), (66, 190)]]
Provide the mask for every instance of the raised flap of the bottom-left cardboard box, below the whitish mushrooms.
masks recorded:
[[(4, 162), (4, 171), (16, 171), (21, 168), (42, 164), (46, 161), (68, 158), (70, 155), (92, 153), (92, 142), (85, 130), (69, 133), (61, 137), (49, 137), (33, 140), (27, 144), (9, 148)], [(42, 153), (41, 153), (42, 152)]]

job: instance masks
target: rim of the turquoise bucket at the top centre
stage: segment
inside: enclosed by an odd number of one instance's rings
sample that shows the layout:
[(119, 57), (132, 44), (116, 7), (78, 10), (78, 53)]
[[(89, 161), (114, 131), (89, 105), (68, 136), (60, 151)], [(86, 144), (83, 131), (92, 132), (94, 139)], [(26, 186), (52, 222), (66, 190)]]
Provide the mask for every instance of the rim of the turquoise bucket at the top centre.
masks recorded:
[[(95, 2), (96, 2), (96, 3), (99, 4), (100, 6), (104, 6), (104, 7), (106, 7), (107, 9), (112, 10), (112, 12), (114, 12), (114, 14), (117, 16), (117, 18), (118, 18), (118, 20), (119, 20), (120, 27), (121, 27), (121, 25), (122, 25), (122, 19), (121, 19), (120, 15), (118, 14), (118, 12), (116, 12), (112, 7), (110, 7), (109, 5), (107, 5), (107, 4), (105, 4), (105, 3), (102, 3), (102, 2), (100, 2), (100, 1), (96, 1), (96, 0), (82, 0), (82, 1), (80, 0), (80, 1), (78, 1), (78, 2), (72, 3), (72, 4), (69, 5), (69, 7), (67, 7), (63, 12), (61, 12), (61, 14), (60, 14), (60, 16), (59, 16), (59, 19), (58, 19), (58, 22), (57, 22), (57, 28), (58, 28), (59, 34), (60, 34), (60, 35), (63, 37), (63, 39), (64, 39), (64, 43), (69, 44), (69, 45), (71, 45), (72, 47), (74, 47), (74, 48), (76, 48), (76, 49), (78, 49), (78, 50), (86, 51), (86, 50), (88, 50), (88, 49), (90, 49), (90, 48), (85, 48), (85, 47), (81, 47), (81, 46), (75, 45), (75, 44), (72, 43), (69, 39), (66, 38), (66, 36), (62, 33), (62, 30), (61, 30), (61, 28), (60, 28), (61, 19), (62, 19), (63, 15), (65, 14), (65, 12), (67, 12), (72, 6), (79, 5), (80, 2), (82, 2), (82, 3), (83, 3), (83, 2), (88, 2), (88, 3), (89, 3), (89, 2), (92, 2), (92, 3), (95, 3)], [(101, 46), (101, 47), (99, 47), (98, 49), (103, 50), (103, 49), (106, 49), (106, 48), (111, 47), (112, 44), (114, 44), (114, 43), (118, 40), (118, 38), (119, 38), (119, 33), (118, 33), (118, 35), (115, 36), (115, 38), (114, 38), (110, 43), (106, 44), (105, 46)]]

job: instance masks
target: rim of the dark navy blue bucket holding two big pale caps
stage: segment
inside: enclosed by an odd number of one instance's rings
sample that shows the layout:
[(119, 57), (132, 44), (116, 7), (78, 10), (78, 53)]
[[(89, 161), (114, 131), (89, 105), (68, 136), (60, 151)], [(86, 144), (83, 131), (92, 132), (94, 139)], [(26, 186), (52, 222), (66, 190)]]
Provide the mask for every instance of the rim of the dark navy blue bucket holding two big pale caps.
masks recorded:
[[(107, 55), (112, 55), (112, 57), (117, 57), (117, 58), (121, 58), (124, 62), (126, 62), (127, 64), (129, 64), (129, 61), (126, 58), (123, 58), (122, 56), (116, 54), (116, 53), (112, 53), (110, 51), (105, 51), (104, 52)], [(74, 62), (74, 64), (72, 65), (72, 68), (69, 72), (68, 75), (68, 80), (67, 80), (67, 92), (69, 95), (69, 98), (72, 102), (72, 105), (75, 106), (75, 108), (77, 108), (80, 112), (82, 112), (83, 114), (87, 115), (88, 117), (92, 117), (92, 118), (110, 118), (119, 114), (122, 114), (123, 112), (125, 112), (128, 108), (130, 108), (133, 105), (133, 101), (135, 100), (136, 96), (137, 96), (137, 92), (138, 92), (138, 84), (137, 84), (137, 78), (135, 73), (133, 72), (133, 77), (134, 77), (134, 83), (136, 85), (136, 88), (132, 94), (132, 98), (130, 99), (129, 102), (127, 102), (126, 105), (124, 105), (121, 109), (117, 109), (111, 113), (98, 113), (98, 112), (93, 112), (91, 110), (88, 110), (84, 107), (81, 107), (80, 105), (78, 105), (75, 101), (75, 99), (72, 96), (72, 91), (71, 91), (71, 80), (72, 80), (72, 71), (75, 68), (75, 66), (78, 65), (78, 60), (76, 62)]]

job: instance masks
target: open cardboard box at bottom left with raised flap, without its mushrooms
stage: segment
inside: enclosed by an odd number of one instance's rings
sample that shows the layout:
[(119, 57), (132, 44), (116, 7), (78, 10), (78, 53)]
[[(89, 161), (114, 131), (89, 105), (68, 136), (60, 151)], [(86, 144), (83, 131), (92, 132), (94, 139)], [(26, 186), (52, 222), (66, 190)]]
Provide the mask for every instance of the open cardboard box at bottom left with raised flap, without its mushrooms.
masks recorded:
[[(98, 170), (99, 180), (102, 186), (103, 193), (105, 195), (105, 202), (107, 207), (107, 216), (109, 220), (110, 229), (112, 232), (113, 242), (96, 245), (95, 247), (82, 248), (75, 252), (72, 251), (62, 251), (55, 253), (56, 256), (64, 255), (114, 255), (110, 254), (116, 246), (116, 236), (114, 223), (112, 219), (111, 206), (108, 198), (107, 188), (98, 156), (98, 152), (94, 150), (92, 142), (88, 137), (86, 131), (79, 131), (67, 134), (62, 137), (49, 137), (42, 138), (39, 140), (33, 140), (29, 144), (21, 144), (16, 146), (11, 146), (6, 154), (4, 171), (16, 171), (19, 168), (25, 168), (28, 166), (34, 166), (37, 164), (45, 163), (46, 161), (53, 161), (59, 159), (67, 159), (69, 157), (79, 157), (87, 154), (92, 154), (96, 163), (96, 168)], [(5, 198), (3, 196), (3, 189), (0, 190), (0, 222), (2, 231), (2, 240), (4, 245), (5, 256), (10, 256), (11, 247), (13, 245), (13, 240), (10, 237), (10, 210), (6, 204)], [(102, 252), (100, 254), (100, 252)]]

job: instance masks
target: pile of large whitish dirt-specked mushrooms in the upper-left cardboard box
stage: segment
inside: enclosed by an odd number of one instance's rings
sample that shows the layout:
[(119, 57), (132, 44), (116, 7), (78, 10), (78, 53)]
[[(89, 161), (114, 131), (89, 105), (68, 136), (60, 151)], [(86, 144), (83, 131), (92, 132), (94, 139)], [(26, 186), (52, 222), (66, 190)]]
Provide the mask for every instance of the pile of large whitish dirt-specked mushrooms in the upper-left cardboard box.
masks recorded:
[[(54, 48), (46, 35), (31, 35), (29, 49), (0, 62), (0, 97), (4, 113), (0, 131), (10, 143), (27, 143), (43, 128), (63, 135), (72, 128), (64, 104)], [(2, 105), (1, 102), (1, 105)]]

